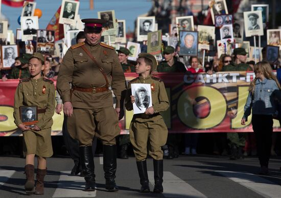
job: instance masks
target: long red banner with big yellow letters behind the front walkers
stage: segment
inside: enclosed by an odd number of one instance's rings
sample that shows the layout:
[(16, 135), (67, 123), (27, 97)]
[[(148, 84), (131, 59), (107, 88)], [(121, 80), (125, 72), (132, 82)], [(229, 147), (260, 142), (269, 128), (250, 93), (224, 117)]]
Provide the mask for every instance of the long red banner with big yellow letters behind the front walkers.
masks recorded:
[[(250, 122), (241, 125), (252, 72), (208, 74), (158, 73), (165, 82), (170, 107), (162, 112), (169, 133), (252, 132)], [(130, 81), (137, 75), (125, 73)], [(0, 136), (20, 135), (13, 119), (18, 80), (0, 81)], [(133, 111), (125, 111), (121, 133), (128, 133)], [(52, 135), (61, 134), (63, 116), (53, 117)], [(248, 120), (251, 120), (249, 116)], [(274, 131), (280, 131), (274, 120)]]

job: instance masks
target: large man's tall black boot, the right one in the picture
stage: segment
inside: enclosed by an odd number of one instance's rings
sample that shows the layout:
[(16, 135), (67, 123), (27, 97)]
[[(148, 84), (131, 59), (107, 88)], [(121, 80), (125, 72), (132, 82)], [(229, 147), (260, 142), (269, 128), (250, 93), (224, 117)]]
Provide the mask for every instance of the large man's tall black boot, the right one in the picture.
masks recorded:
[(103, 170), (105, 178), (105, 189), (109, 192), (118, 191), (115, 184), (116, 173), (116, 145), (103, 146)]

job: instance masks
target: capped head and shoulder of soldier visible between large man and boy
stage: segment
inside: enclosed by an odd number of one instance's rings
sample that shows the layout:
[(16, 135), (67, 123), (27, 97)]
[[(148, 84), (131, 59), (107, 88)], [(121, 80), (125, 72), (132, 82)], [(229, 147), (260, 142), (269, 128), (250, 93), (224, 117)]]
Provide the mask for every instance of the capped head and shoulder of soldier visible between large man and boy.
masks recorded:
[(118, 52), (118, 60), (121, 63), (124, 72), (135, 72), (135, 66), (128, 61), (129, 54), (131, 53), (126, 47), (120, 47), (116, 50)]

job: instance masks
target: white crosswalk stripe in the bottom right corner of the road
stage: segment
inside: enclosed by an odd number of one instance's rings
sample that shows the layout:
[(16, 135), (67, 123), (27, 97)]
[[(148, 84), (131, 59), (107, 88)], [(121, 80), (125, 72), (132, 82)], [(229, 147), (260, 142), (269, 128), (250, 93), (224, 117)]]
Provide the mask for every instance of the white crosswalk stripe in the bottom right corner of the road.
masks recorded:
[(231, 171), (217, 171), (217, 173), (237, 182), (254, 192), (265, 197), (281, 197), (281, 186), (250, 173), (239, 173)]

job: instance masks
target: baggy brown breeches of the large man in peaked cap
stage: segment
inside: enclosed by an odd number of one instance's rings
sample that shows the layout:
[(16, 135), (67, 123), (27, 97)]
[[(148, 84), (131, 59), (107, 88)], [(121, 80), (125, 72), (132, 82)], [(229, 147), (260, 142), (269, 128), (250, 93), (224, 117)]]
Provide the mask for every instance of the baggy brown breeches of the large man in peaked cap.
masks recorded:
[(120, 134), (118, 115), (113, 106), (98, 109), (73, 108), (73, 115), (67, 118), (69, 134), (78, 139), (80, 146), (91, 146), (97, 136), (103, 145), (115, 145)]

